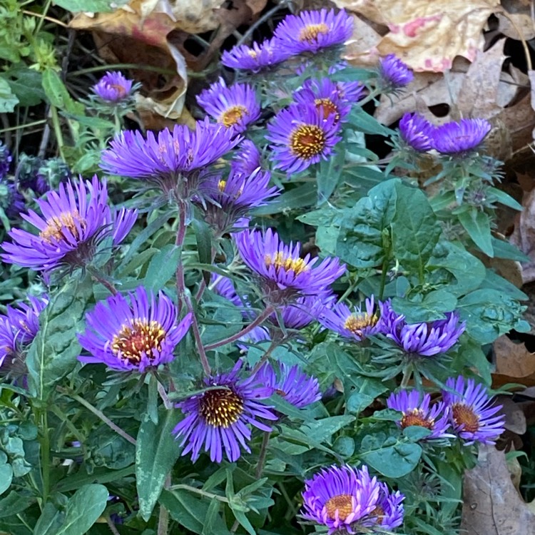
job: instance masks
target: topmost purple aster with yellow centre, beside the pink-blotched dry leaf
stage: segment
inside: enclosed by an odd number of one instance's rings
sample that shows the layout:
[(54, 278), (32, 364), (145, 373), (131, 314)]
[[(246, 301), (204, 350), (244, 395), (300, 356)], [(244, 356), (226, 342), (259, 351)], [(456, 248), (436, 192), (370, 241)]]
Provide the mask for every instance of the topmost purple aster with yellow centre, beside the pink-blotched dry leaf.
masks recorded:
[(301, 11), (299, 15), (287, 15), (275, 28), (278, 46), (290, 54), (303, 52), (317, 54), (323, 49), (343, 44), (353, 33), (353, 19), (343, 9)]

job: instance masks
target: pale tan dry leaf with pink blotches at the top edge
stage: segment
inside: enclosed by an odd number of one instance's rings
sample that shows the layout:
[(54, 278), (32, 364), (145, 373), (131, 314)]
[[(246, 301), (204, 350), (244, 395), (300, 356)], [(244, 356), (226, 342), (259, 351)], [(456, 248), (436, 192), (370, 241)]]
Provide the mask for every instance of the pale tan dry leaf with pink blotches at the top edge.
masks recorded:
[(414, 71), (443, 72), (455, 56), (470, 61), (484, 46), (486, 21), (499, 0), (335, 0), (338, 7), (360, 13), (388, 27), (377, 44), (384, 56), (395, 54)]

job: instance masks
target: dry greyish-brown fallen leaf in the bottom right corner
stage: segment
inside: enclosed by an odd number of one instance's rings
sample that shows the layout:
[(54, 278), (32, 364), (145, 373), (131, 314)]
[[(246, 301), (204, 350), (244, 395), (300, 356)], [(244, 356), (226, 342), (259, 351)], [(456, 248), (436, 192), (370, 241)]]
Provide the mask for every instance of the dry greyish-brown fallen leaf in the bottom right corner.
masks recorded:
[(514, 488), (504, 452), (479, 446), (478, 465), (464, 474), (464, 535), (535, 535), (534, 504)]

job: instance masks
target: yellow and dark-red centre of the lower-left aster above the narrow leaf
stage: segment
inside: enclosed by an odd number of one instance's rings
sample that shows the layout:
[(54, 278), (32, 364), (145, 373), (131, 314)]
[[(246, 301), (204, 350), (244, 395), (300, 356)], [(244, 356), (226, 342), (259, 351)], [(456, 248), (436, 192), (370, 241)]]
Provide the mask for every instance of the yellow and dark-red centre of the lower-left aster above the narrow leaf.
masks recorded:
[(167, 333), (156, 321), (133, 320), (131, 325), (122, 325), (111, 341), (111, 350), (126, 362), (137, 365), (141, 355), (153, 359), (153, 350), (161, 351)]

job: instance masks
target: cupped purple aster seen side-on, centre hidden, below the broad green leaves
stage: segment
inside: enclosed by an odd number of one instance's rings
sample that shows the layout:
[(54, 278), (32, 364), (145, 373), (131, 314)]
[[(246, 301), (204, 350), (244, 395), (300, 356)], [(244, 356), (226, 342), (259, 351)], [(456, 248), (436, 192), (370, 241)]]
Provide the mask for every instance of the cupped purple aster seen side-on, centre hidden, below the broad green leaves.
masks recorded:
[(457, 312), (447, 312), (444, 320), (407, 323), (404, 315), (394, 312), (390, 301), (381, 305), (382, 332), (409, 355), (432, 357), (451, 349), (464, 332), (466, 322)]

